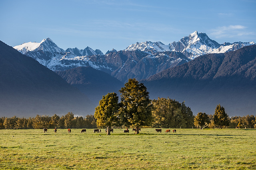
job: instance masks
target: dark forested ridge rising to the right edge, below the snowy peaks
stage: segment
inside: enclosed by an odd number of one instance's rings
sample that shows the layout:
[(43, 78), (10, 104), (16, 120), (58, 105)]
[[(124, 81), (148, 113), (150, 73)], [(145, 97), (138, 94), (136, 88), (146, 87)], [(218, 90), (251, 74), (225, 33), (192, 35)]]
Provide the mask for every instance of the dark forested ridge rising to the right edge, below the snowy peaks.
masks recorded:
[(214, 114), (221, 104), (229, 116), (255, 115), (256, 45), (208, 54), (166, 69), (141, 82), (150, 98), (186, 101), (193, 113)]

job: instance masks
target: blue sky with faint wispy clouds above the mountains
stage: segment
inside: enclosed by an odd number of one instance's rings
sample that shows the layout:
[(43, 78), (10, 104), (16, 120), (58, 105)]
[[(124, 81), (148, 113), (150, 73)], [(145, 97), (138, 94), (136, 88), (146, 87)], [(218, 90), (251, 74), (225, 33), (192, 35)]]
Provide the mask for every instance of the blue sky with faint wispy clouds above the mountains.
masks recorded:
[(218, 43), (256, 41), (255, 0), (0, 0), (0, 40), (50, 37), (103, 53), (144, 41), (168, 45), (194, 31)]

